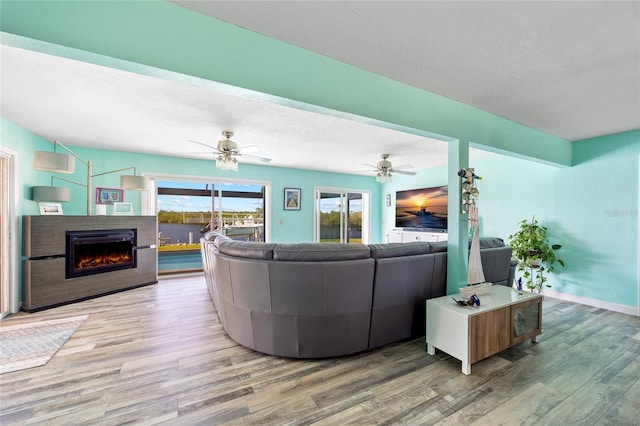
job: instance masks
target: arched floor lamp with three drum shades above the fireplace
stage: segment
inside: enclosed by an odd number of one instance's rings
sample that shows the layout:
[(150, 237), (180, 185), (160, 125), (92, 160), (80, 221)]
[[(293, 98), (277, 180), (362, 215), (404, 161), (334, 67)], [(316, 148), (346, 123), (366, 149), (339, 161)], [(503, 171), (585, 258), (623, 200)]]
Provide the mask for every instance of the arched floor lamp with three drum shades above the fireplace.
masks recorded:
[[(63, 148), (69, 153), (69, 155), (56, 152), (58, 147)], [(58, 179), (64, 182), (72, 183), (74, 185), (80, 185), (87, 189), (87, 216), (91, 216), (91, 205), (93, 204), (93, 178), (96, 176), (103, 176), (111, 173), (123, 172), (125, 170), (133, 169), (133, 175), (121, 175), (120, 187), (124, 189), (130, 189), (133, 191), (145, 191), (148, 188), (148, 179), (145, 176), (137, 176), (136, 168), (123, 167), (121, 169), (110, 170), (103, 173), (93, 173), (93, 163), (88, 160), (84, 160), (75, 152), (71, 151), (67, 146), (53, 141), (53, 152), (50, 151), (35, 151), (33, 153), (33, 168), (34, 170), (41, 170), (51, 173), (74, 173), (75, 172), (75, 160), (80, 161), (87, 166), (86, 183), (76, 182), (74, 180), (65, 179), (59, 176), (51, 176), (50, 186), (34, 186), (32, 188), (32, 199), (34, 201), (70, 201), (71, 191), (66, 187), (54, 186), (54, 179)], [(120, 196), (122, 201), (122, 196)]]

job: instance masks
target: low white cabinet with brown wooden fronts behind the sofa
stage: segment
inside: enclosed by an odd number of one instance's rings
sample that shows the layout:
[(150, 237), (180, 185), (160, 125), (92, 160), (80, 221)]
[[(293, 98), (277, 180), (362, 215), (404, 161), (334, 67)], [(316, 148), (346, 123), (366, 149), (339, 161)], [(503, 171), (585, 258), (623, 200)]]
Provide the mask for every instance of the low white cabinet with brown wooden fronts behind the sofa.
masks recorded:
[(510, 287), (496, 285), (480, 297), (479, 307), (460, 306), (452, 296), (426, 302), (427, 353), (435, 355), (438, 348), (461, 360), (464, 374), (471, 374), (471, 364), (526, 339), (536, 342), (542, 332), (540, 294), (518, 295)]

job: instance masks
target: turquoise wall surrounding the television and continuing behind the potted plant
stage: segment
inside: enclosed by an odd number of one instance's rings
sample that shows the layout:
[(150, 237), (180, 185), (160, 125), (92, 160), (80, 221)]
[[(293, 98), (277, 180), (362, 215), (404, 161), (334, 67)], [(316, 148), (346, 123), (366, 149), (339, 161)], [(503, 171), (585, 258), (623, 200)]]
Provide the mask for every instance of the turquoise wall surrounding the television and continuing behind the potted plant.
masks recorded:
[[(477, 183), (480, 233), (508, 241), (518, 222), (535, 216), (549, 228), (550, 240), (563, 245), (558, 253), (566, 268), (549, 277), (551, 292), (623, 311), (638, 308), (640, 131), (573, 146), (570, 168), (498, 154), (472, 160), (483, 177)], [(446, 181), (446, 167), (421, 170), (414, 178), (396, 176), (383, 186), (382, 197)], [(393, 228), (393, 205), (383, 208), (382, 220)]]

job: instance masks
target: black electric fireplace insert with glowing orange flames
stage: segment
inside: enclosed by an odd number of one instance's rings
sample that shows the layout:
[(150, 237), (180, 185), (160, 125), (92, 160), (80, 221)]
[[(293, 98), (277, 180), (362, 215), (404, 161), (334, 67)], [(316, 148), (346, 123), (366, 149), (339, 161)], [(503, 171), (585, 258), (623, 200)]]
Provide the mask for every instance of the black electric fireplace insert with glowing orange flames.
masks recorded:
[(135, 268), (136, 230), (66, 232), (66, 278)]

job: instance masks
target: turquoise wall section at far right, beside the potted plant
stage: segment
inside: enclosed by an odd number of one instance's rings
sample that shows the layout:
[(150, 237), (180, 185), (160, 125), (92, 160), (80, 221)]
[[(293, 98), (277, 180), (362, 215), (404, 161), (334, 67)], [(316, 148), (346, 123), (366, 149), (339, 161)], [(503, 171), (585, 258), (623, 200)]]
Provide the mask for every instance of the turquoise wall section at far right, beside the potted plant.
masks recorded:
[(640, 131), (575, 142), (573, 161), (554, 182), (554, 218), (574, 272), (563, 289), (638, 306)]

